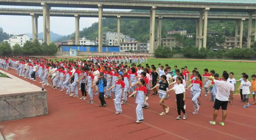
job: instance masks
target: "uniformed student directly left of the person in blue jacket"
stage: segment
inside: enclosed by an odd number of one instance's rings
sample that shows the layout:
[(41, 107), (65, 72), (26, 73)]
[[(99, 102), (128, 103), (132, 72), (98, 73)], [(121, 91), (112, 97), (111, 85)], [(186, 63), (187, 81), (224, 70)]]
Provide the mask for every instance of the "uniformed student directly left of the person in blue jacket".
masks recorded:
[(88, 95), (90, 97), (90, 100), (87, 102), (89, 104), (93, 104), (93, 88), (92, 85), (94, 83), (94, 74), (92, 73), (92, 69), (88, 69), (88, 76), (87, 76), (87, 89), (88, 89)]

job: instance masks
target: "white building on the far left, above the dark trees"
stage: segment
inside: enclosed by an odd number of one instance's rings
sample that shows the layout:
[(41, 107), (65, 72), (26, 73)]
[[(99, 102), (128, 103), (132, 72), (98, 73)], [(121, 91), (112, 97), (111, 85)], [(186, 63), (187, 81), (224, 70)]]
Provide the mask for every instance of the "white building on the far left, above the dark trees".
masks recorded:
[(15, 44), (19, 44), (21, 47), (23, 47), (26, 41), (30, 41), (30, 38), (26, 34), (21, 34), (18, 36), (12, 36), (11, 38), (9, 38), (9, 40), (4, 41), (7, 41), (11, 45), (11, 47)]

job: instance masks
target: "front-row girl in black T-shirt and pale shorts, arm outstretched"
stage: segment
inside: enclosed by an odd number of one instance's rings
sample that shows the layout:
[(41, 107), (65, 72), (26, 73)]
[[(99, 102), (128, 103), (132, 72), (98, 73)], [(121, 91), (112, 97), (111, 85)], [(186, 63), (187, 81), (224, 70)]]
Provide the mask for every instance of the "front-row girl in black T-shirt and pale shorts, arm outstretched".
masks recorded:
[(155, 85), (155, 87), (151, 88), (150, 91), (159, 87), (158, 89), (159, 98), (160, 98), (159, 104), (162, 106), (162, 109), (163, 109), (159, 115), (165, 115), (166, 113), (169, 112), (169, 109), (170, 109), (170, 107), (165, 105), (165, 99), (168, 98), (168, 94), (166, 93), (166, 91), (168, 90), (169, 84), (166, 81), (165, 75), (161, 75), (160, 78), (161, 78), (161, 81), (157, 85)]

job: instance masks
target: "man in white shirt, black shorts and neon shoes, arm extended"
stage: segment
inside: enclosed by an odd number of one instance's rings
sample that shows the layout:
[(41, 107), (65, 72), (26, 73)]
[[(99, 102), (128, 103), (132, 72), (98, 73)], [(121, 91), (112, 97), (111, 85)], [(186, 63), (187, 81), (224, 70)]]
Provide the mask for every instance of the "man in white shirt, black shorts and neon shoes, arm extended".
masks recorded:
[[(214, 84), (217, 85), (217, 94), (216, 94), (216, 99), (214, 102), (214, 111), (213, 111), (213, 120), (210, 121), (210, 124), (215, 125), (216, 124), (216, 118), (218, 116), (219, 108), (221, 107), (222, 109), (222, 121), (219, 123), (220, 125), (224, 126), (224, 121), (227, 116), (227, 106), (229, 103), (229, 99), (233, 99), (233, 92), (234, 88), (231, 83), (227, 81), (229, 78), (228, 73), (223, 73), (222, 75), (222, 81), (220, 80), (215, 80), (212, 77), (208, 77), (209, 80), (212, 80)], [(231, 97), (230, 97), (231, 96)]]

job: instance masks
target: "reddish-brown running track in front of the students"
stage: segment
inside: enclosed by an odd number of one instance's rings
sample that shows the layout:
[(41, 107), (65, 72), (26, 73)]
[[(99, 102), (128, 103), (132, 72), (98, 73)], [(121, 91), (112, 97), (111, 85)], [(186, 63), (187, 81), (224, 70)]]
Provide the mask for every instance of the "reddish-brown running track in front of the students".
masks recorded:
[[(8, 71), (16, 76), (16, 71)], [(37, 86), (36, 82), (26, 79)], [(136, 124), (135, 98), (122, 105), (123, 114), (115, 115), (112, 99), (106, 99), (107, 107), (88, 104), (87, 100), (70, 98), (65, 92), (48, 88), (49, 114), (28, 119), (0, 122), (0, 131), (6, 140), (255, 140), (256, 106), (243, 109), (240, 96), (234, 96), (234, 104), (228, 106), (226, 126), (220, 126), (221, 110), (216, 125), (209, 124), (213, 114), (210, 97), (200, 97), (199, 114), (193, 115), (190, 94), (187, 94), (187, 120), (176, 120), (174, 93), (165, 101), (171, 112), (160, 116), (158, 96), (149, 96), (149, 109), (144, 109), (144, 123)], [(79, 93), (81, 96), (81, 93)], [(252, 99), (249, 100), (250, 102)]]

